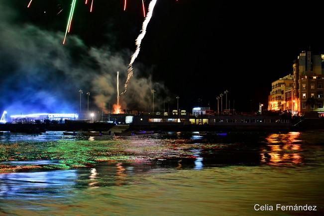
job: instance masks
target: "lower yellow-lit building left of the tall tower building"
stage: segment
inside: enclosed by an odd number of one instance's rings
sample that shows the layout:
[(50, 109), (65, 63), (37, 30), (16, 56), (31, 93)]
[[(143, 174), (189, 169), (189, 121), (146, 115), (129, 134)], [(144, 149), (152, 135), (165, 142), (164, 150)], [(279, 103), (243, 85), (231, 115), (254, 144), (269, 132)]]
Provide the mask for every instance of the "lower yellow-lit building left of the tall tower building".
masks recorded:
[(268, 110), (285, 110), (285, 91), (293, 87), (293, 75), (289, 74), (272, 82), (272, 90), (269, 95)]

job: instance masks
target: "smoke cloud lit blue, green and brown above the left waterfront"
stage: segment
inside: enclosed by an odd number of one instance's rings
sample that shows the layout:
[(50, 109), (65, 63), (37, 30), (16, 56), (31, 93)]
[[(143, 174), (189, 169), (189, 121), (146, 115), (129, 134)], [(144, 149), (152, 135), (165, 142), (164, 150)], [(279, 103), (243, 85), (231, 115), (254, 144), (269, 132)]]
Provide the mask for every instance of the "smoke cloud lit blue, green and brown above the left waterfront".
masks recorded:
[[(112, 107), (117, 97), (116, 72), (123, 89), (131, 51), (111, 52), (107, 45), (88, 47), (76, 36), (69, 36), (63, 46), (63, 32), (15, 23), (15, 11), (2, 1), (0, 10), (4, 11), (0, 13), (0, 112), (75, 112), (79, 110), (79, 89), (84, 91), (83, 110), (88, 91), (93, 109), (111, 109), (108, 105)], [(139, 68), (134, 67), (129, 89), (120, 97), (121, 109), (151, 109), (153, 88), (156, 107), (163, 103), (159, 94), (168, 94), (163, 84), (141, 77), (146, 69)]]

